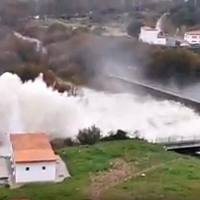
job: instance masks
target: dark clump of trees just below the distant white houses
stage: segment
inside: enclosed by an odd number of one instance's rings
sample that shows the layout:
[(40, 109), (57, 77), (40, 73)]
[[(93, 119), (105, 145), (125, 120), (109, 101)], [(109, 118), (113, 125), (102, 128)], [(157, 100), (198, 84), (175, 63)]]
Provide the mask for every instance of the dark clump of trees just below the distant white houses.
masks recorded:
[(166, 83), (172, 78), (184, 86), (200, 80), (200, 55), (184, 48), (156, 48), (149, 53), (147, 78)]

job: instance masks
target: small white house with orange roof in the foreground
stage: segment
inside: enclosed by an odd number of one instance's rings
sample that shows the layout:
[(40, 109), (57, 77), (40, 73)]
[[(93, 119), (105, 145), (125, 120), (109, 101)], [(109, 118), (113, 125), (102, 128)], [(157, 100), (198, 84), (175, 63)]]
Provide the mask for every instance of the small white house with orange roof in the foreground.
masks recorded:
[(55, 181), (57, 157), (47, 134), (11, 134), (10, 141), (15, 183)]

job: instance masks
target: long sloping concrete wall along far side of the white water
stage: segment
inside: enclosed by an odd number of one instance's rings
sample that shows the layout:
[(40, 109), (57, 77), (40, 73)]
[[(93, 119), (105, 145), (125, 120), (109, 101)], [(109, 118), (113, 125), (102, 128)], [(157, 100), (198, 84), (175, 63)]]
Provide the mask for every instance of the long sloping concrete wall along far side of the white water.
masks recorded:
[(140, 94), (146, 93), (158, 99), (167, 99), (180, 102), (185, 106), (190, 107), (194, 109), (196, 112), (200, 113), (200, 101), (196, 101), (194, 99), (187, 98), (167, 90), (162, 90), (160, 88), (153, 87), (148, 84), (144, 84), (135, 80), (130, 80), (129, 78), (115, 76), (115, 75), (108, 75), (107, 77), (115, 82), (123, 83), (124, 86), (127, 86), (129, 88), (131, 87), (134, 91)]

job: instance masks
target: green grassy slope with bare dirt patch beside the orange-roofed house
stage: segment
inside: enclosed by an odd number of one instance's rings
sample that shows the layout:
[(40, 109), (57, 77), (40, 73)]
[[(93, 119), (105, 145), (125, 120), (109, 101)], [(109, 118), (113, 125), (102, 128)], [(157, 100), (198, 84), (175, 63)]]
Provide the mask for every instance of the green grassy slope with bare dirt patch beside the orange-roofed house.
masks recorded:
[(59, 184), (0, 189), (0, 199), (194, 199), (200, 195), (200, 161), (144, 141), (102, 142), (59, 151), (71, 178)]

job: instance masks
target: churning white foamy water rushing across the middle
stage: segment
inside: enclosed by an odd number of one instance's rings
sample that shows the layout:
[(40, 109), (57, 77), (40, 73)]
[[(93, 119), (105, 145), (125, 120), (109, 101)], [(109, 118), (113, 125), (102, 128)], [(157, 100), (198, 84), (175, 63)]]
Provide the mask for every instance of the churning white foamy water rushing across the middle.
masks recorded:
[(69, 97), (47, 88), (42, 78), (22, 84), (19, 77), (0, 77), (0, 134), (46, 132), (52, 138), (75, 137), (80, 129), (96, 125), (107, 135), (122, 129), (154, 142), (157, 137), (200, 135), (200, 117), (170, 101), (132, 94), (106, 94), (83, 89)]

